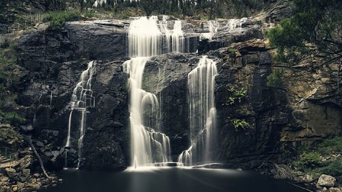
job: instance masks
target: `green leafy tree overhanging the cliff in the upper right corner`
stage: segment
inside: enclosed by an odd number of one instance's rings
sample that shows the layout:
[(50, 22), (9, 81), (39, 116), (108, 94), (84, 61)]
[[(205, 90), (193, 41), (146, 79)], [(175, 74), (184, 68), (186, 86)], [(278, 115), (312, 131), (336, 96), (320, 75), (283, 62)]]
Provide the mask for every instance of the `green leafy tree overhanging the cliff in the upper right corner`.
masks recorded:
[(291, 18), (266, 32), (271, 46), (276, 48), (275, 59), (292, 65), (317, 60), (330, 64), (341, 59), (341, 2), (295, 0), (295, 5)]

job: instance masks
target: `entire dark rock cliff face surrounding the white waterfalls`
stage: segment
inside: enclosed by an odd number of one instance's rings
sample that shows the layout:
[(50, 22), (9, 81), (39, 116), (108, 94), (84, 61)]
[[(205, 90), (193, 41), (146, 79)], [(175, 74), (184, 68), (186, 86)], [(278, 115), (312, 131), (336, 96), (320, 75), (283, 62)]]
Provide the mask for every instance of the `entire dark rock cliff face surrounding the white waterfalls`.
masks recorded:
[[(18, 63), (25, 74), (18, 113), (29, 120), (22, 129), (34, 136), (49, 169), (64, 164), (71, 94), (92, 60), (97, 61), (92, 80), (95, 107), (87, 109), (80, 167), (122, 170), (130, 162), (129, 76), (121, 67), (129, 59), (127, 22), (70, 22), (57, 31), (42, 24), (21, 38)], [(196, 22), (187, 24), (185, 36), (194, 38), (202, 30), (196, 28)], [(227, 22), (221, 20), (220, 25), (227, 26)], [(282, 162), (285, 152), (293, 148), (315, 145), (341, 133), (341, 96), (330, 94), (336, 69), (295, 74), (280, 87), (267, 85), (272, 70), (283, 67), (272, 64), (271, 51), (262, 40), (262, 22), (244, 19), (239, 29), (222, 27), (212, 40), (198, 44), (198, 51), (218, 66), (215, 106), (220, 137), (216, 159), (233, 167)], [(143, 88), (156, 94), (161, 103), (161, 127), (170, 137), (174, 161), (189, 147), (187, 74), (200, 57), (196, 53), (159, 55), (151, 57), (144, 70)], [(283, 70), (285, 74), (293, 72)], [(244, 94), (237, 98), (237, 92)], [(248, 126), (241, 128), (234, 124), (236, 120), (244, 120)], [(71, 127), (75, 143), (79, 121), (73, 120)], [(71, 159), (77, 162), (77, 149), (71, 151)]]

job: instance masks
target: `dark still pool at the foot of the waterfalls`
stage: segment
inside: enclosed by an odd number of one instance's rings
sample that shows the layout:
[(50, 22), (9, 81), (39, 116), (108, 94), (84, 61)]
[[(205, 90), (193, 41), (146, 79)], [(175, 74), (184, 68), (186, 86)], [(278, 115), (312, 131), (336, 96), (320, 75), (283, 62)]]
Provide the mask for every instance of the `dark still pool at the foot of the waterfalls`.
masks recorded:
[(304, 192), (282, 180), (232, 169), (176, 167), (124, 172), (64, 170), (44, 192)]

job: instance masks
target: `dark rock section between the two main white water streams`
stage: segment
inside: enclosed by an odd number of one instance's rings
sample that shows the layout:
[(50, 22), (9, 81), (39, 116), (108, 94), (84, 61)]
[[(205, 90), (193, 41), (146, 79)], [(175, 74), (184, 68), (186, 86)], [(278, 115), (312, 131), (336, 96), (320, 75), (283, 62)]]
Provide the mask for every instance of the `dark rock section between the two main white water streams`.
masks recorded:
[(158, 97), (161, 130), (170, 137), (173, 161), (189, 147), (187, 74), (199, 59), (194, 53), (169, 53), (151, 58), (145, 66), (143, 89)]

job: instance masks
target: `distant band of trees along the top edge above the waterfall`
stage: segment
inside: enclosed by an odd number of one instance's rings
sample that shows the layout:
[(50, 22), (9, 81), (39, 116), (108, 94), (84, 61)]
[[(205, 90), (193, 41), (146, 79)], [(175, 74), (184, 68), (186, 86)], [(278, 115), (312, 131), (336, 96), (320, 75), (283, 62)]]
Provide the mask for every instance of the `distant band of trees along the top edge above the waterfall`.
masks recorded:
[[(79, 0), (80, 8), (92, 8), (94, 0)], [(140, 8), (147, 16), (151, 14), (168, 14), (177, 17), (200, 16), (200, 18), (233, 18), (251, 16), (265, 7), (269, 7), (270, 0), (140, 0), (140, 1), (117, 1), (107, 0), (98, 9), (114, 10), (120, 12), (125, 8)], [(227, 12), (226, 10), (230, 10)], [(242, 10), (242, 11), (241, 11)]]

